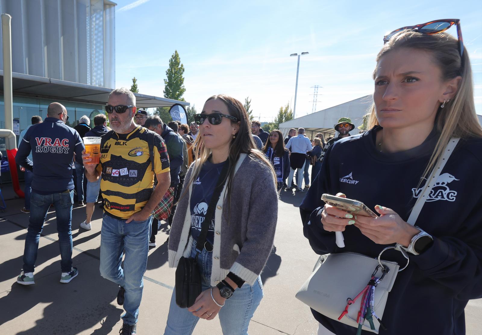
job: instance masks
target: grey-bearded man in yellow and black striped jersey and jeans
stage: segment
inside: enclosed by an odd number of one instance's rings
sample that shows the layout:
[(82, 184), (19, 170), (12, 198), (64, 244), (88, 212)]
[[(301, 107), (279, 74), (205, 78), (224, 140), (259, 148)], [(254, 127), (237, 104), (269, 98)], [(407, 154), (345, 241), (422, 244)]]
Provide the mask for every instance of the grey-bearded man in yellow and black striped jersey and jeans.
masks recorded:
[(87, 179), (101, 178), (104, 197), (100, 274), (119, 285), (117, 303), (125, 309), (120, 333), (131, 335), (142, 299), (152, 211), (171, 183), (169, 156), (161, 136), (134, 123), (135, 96), (129, 89), (113, 90), (106, 112), (113, 132), (103, 136), (100, 163), (88, 164), (85, 151), (82, 158)]

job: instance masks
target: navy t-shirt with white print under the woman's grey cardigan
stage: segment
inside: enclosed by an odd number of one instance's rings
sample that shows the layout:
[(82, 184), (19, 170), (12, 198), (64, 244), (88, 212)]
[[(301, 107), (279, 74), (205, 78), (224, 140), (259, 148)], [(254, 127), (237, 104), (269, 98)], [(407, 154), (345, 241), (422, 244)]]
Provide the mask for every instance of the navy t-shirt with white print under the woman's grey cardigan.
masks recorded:
[[(216, 183), (224, 167), (223, 163), (213, 164), (206, 161), (201, 168), (199, 177), (193, 181), (191, 194), (191, 235), (194, 240), (198, 240), (201, 233), (202, 223), (208, 210), (209, 202), (216, 187)], [(209, 225), (206, 240), (214, 243), (214, 213), (211, 224)]]

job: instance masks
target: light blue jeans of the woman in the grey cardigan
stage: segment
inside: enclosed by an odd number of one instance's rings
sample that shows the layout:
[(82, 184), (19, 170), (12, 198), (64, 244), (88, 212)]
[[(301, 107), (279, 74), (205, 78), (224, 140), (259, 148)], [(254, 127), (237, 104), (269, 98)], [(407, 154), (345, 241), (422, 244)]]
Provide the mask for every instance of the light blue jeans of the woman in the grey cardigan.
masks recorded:
[[(191, 251), (191, 257), (196, 256), (196, 244)], [(198, 258), (198, 266), (202, 276), (202, 290), (211, 289), (211, 268), (213, 266), (212, 252), (202, 250)], [(176, 305), (176, 291), (173, 291), (169, 315), (167, 316), (164, 335), (191, 335), (199, 321), (187, 308)], [(224, 307), (219, 310), (219, 322), (224, 335), (247, 335), (248, 326), (254, 311), (263, 298), (263, 284), (261, 277), (256, 279), (253, 286), (244, 283), (241, 288), (236, 289), (233, 295), (226, 300)], [(213, 322), (213, 321), (209, 321)]]

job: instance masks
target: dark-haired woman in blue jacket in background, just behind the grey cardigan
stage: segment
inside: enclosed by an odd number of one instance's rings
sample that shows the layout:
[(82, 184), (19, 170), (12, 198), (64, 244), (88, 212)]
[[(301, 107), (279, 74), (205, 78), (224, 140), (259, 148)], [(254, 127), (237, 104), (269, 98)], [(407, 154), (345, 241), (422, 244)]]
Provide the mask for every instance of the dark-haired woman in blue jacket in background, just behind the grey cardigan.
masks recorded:
[(283, 180), (290, 174), (290, 153), (284, 147), (283, 134), (278, 129), (271, 131), (263, 152), (274, 167), (278, 183), (278, 194), (283, 187)]

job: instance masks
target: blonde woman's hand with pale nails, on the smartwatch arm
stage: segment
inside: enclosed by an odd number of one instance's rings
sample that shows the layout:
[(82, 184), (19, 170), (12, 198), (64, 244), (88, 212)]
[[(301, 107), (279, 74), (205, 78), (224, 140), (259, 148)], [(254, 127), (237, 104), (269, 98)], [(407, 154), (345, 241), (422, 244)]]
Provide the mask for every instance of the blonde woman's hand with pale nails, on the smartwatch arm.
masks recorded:
[(377, 244), (400, 243), (408, 247), (412, 237), (420, 232), (413, 225), (403, 221), (393, 209), (377, 205), (375, 210), (380, 216), (372, 218), (357, 215), (355, 226)]

